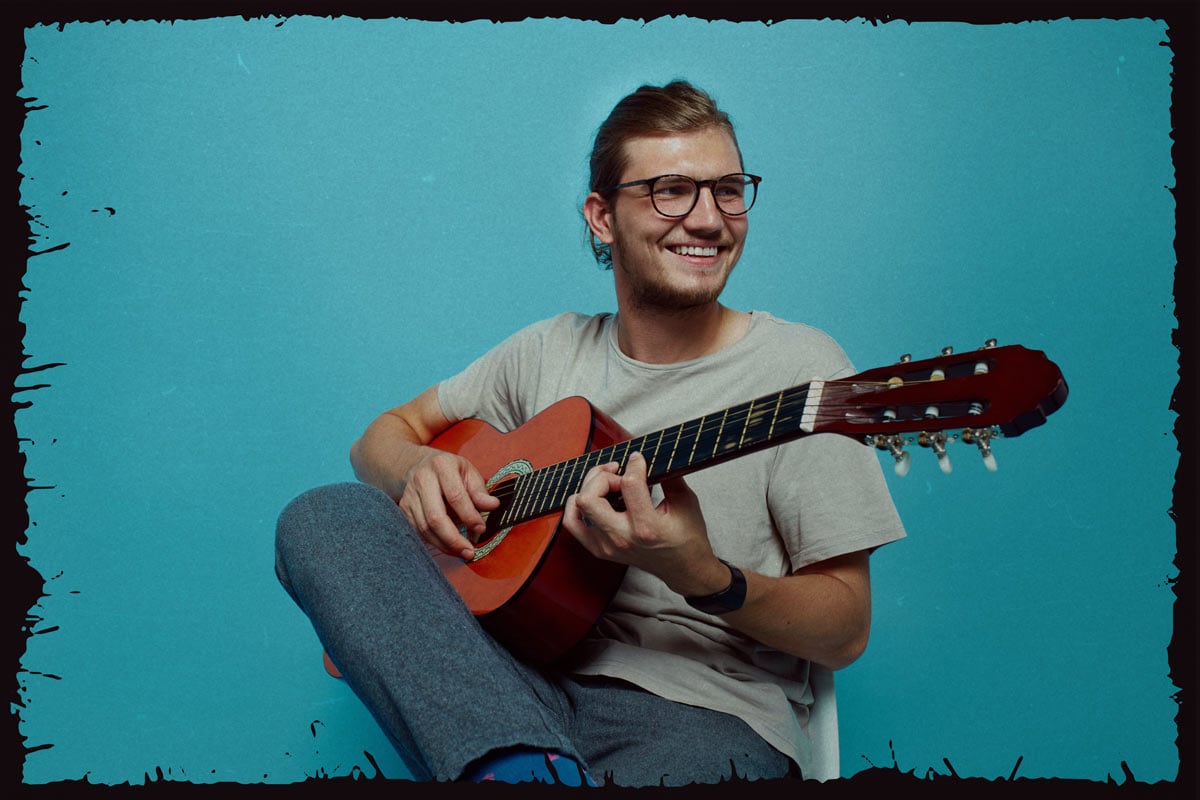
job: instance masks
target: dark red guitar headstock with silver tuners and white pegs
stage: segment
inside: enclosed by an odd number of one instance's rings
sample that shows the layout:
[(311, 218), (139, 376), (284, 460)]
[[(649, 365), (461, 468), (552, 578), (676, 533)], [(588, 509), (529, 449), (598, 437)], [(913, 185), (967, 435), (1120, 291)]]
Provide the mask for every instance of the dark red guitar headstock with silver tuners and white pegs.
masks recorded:
[(905, 445), (914, 440), (935, 452), (946, 473), (946, 445), (955, 439), (974, 444), (995, 470), (992, 439), (1043, 425), (1066, 399), (1062, 372), (1044, 353), (996, 347), (991, 339), (978, 350), (944, 348), (920, 361), (902, 356), (888, 367), (826, 381), (814, 432), (860, 438), (887, 450), (900, 475), (908, 469)]

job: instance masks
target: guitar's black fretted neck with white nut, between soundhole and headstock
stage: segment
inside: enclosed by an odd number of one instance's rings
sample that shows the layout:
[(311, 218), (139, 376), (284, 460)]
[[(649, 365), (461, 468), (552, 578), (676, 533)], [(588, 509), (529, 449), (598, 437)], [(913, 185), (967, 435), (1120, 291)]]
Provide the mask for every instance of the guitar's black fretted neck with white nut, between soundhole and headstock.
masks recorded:
[(646, 458), (647, 480), (658, 483), (808, 435), (822, 385), (812, 381), (785, 389), (522, 475), (512, 482), (502, 524), (562, 510), (588, 470), (617, 462), (625, 471), (635, 452)]

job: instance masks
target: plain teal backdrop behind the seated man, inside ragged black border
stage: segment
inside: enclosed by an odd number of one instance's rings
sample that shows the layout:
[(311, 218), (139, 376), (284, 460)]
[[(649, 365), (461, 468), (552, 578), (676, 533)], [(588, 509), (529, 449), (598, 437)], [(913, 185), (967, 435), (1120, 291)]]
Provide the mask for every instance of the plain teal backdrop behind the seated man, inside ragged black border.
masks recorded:
[[(686, 77), (766, 176), (726, 294), (860, 368), (988, 337), (1042, 428), (888, 480), (844, 775), (1177, 775), (1175, 185), (1163, 22), (218, 18), (25, 32), (26, 783), (408, 775), (322, 669), (275, 517), (384, 408), (612, 305), (595, 126)], [(1166, 46), (1164, 46), (1166, 44)], [(50, 249), (58, 248), (58, 249)], [(884, 464), (887, 467), (887, 464)], [(452, 680), (446, 691), (452, 691)], [(480, 698), (480, 702), (487, 702)]]

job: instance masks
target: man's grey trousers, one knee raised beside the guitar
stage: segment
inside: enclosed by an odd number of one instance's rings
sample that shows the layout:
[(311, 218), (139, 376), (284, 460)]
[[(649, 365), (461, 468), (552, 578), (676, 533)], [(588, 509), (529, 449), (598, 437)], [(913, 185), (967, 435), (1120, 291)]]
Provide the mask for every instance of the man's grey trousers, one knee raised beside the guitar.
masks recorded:
[(336, 483), (288, 504), (276, 572), (419, 780), (457, 780), (516, 746), (570, 756), (618, 786), (796, 774), (734, 716), (515, 658), (373, 487)]

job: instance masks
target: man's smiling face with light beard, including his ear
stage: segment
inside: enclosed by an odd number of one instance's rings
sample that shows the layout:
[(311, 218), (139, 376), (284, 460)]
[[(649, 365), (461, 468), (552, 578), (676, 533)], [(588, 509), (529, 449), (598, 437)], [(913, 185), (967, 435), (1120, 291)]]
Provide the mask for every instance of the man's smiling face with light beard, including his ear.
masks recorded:
[[(658, 175), (710, 180), (742, 172), (730, 134), (709, 127), (690, 133), (647, 136), (625, 143), (629, 166), (620, 182)], [(617, 296), (630, 307), (678, 311), (714, 302), (742, 255), (746, 217), (730, 217), (712, 192), (700, 190), (685, 217), (665, 217), (649, 188), (620, 190), (606, 204), (598, 237), (610, 245)]]

